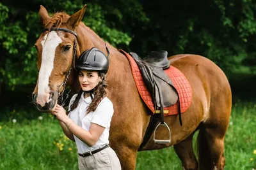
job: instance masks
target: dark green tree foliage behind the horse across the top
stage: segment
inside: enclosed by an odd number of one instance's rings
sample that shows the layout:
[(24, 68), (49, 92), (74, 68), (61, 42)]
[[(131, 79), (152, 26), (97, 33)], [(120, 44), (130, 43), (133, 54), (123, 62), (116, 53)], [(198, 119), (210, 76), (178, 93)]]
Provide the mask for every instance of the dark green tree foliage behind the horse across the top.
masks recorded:
[[(195, 53), (214, 61), (230, 76), (256, 71), (254, 1), (4, 0), (0, 3), (0, 81), (8, 88), (36, 83), (35, 40), (42, 32), (40, 4), (50, 14), (73, 14), (87, 4), (83, 22), (116, 48), (147, 55)], [(31, 7), (22, 6), (29, 3)], [(13, 5), (15, 4), (15, 5)], [(159, 12), (161, 11), (161, 12)], [(2, 61), (2, 60), (1, 60)]]

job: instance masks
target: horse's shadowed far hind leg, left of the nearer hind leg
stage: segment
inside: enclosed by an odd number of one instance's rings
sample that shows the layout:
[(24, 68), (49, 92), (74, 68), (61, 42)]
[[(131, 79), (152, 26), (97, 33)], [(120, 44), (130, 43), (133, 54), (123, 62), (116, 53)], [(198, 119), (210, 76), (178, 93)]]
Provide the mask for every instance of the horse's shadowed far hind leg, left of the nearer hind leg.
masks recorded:
[(180, 143), (174, 145), (174, 150), (179, 156), (183, 169), (186, 170), (196, 170), (198, 169), (198, 162), (195, 157), (195, 153), (193, 151), (193, 134), (191, 134), (188, 138), (186, 138), (184, 141), (181, 141)]

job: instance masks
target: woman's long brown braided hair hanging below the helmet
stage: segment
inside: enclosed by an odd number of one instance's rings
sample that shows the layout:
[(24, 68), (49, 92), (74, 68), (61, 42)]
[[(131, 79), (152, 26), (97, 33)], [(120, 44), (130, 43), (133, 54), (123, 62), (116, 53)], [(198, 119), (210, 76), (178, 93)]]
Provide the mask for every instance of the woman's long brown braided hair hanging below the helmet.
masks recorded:
[[(100, 101), (102, 101), (102, 99), (107, 96), (108, 90), (107, 90), (107, 84), (106, 84), (106, 80), (105, 80), (105, 73), (99, 72), (99, 76), (102, 78), (102, 81), (100, 81), (99, 84), (95, 87), (95, 90), (93, 92), (94, 97), (92, 99), (92, 102), (90, 103), (90, 105), (88, 106), (88, 108), (86, 110), (86, 114), (90, 113), (90, 111), (95, 111), (97, 106), (99, 105)], [(70, 111), (77, 108), (79, 99), (82, 94), (83, 94), (83, 90), (81, 89), (78, 92), (75, 101), (70, 106)]]

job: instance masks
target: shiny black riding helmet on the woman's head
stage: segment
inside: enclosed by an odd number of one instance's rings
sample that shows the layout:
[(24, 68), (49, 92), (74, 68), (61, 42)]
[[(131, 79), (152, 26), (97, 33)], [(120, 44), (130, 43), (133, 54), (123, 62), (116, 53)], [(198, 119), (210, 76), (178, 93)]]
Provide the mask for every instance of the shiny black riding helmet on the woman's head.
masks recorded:
[(108, 57), (96, 47), (93, 47), (90, 50), (86, 50), (83, 53), (81, 53), (81, 55), (76, 61), (77, 70), (86, 69), (90, 71), (100, 71), (103, 73), (107, 73), (108, 67)]

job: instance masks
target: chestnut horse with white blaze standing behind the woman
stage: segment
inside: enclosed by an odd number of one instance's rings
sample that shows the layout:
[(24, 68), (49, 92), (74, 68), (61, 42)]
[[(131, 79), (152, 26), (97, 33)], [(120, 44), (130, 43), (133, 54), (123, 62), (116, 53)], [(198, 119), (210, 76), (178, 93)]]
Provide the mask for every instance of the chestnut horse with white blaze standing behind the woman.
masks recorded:
[[(40, 111), (51, 111), (54, 108), (65, 87), (65, 80), (73, 94), (79, 91), (74, 57), (93, 46), (107, 55), (105, 42), (81, 22), (85, 9), (86, 5), (71, 17), (63, 12), (49, 17), (44, 6), (40, 6), (40, 20), (44, 29), (47, 29), (42, 31), (35, 43), (39, 72), (33, 102)], [(49, 31), (49, 28), (59, 29)], [(136, 88), (127, 57), (108, 43), (107, 46), (110, 51), (106, 79), (108, 97), (115, 110), (109, 145), (118, 155), (122, 169), (135, 169), (138, 148), (150, 121), (150, 110)], [(174, 146), (183, 169), (223, 169), (224, 138), (232, 106), (227, 77), (214, 62), (200, 55), (174, 55), (168, 59), (188, 78), (193, 101), (188, 110), (182, 113), (182, 126), (178, 115), (164, 118), (172, 132), (171, 143), (154, 143), (151, 136), (141, 150)], [(71, 73), (70, 76), (68, 73)], [(197, 130), (198, 160), (192, 145), (193, 135)], [(157, 134), (163, 138), (168, 136), (167, 131), (159, 131)]]

